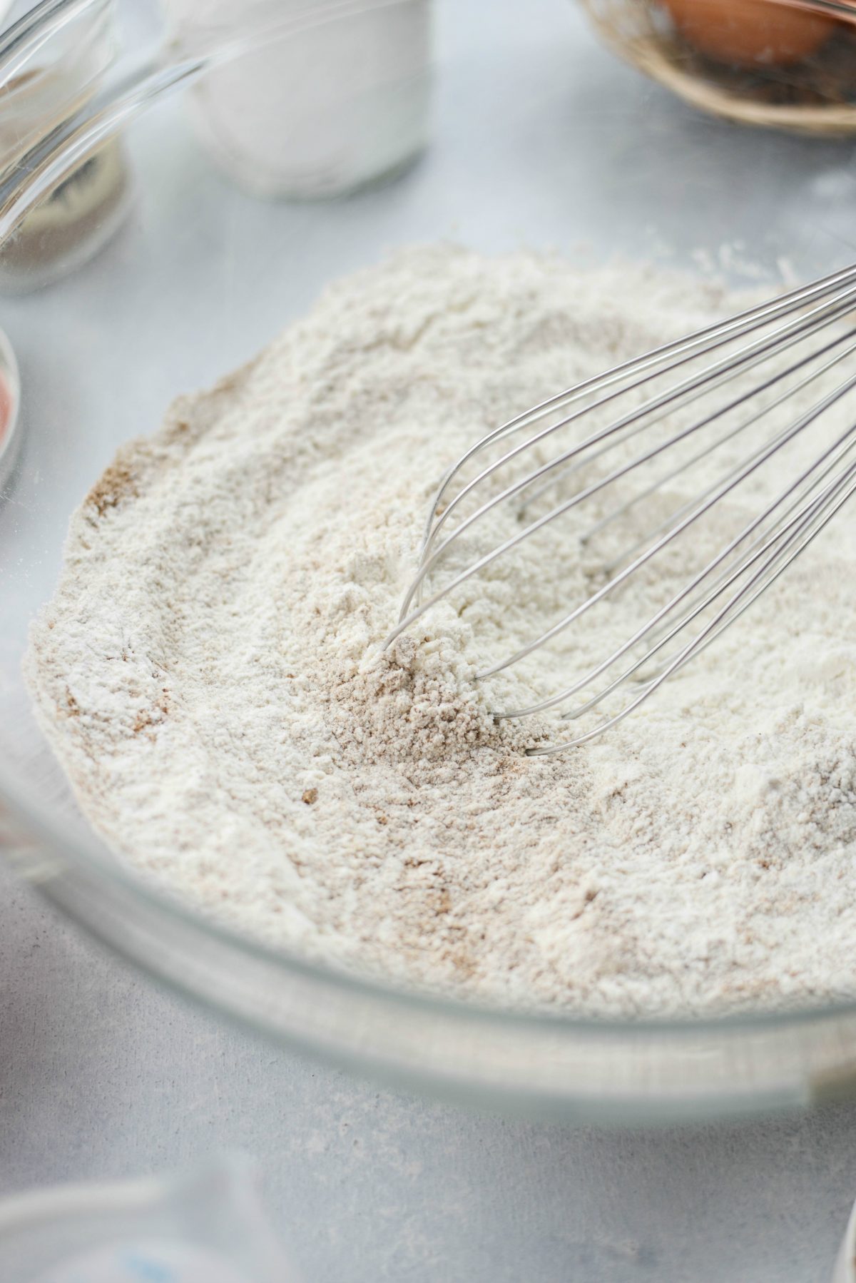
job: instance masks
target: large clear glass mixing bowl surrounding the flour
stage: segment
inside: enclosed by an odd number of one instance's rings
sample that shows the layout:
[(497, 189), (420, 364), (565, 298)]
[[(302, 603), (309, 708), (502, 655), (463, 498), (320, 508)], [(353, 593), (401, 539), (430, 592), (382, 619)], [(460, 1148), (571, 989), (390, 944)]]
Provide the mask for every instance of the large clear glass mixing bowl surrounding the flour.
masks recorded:
[[(47, 0), (30, 30), (71, 8)], [(123, 19), (135, 47), (157, 37), (158, 15), (140, 0)], [(438, 237), (485, 251), (558, 248), (590, 262), (714, 262), (743, 281), (740, 263), (775, 281), (848, 262), (852, 145), (694, 115), (598, 49), (562, 0), (441, 0), (434, 38), (425, 157), (385, 186), (313, 204), (263, 203), (231, 185), (195, 142), (180, 95), (167, 92), (181, 77), (151, 59), (123, 82), (126, 106), (113, 114), (133, 183), (123, 226), (73, 275), (3, 302), (24, 436), (0, 503), (5, 848), (44, 896), (150, 975), (284, 1044), (386, 1080), (637, 1121), (850, 1094), (853, 1003), (679, 1023), (578, 1020), (415, 994), (257, 947), (142, 887), (105, 849), (31, 716), (21, 657), (72, 509), (175, 394), (243, 362), (329, 280)], [(9, 49), (4, 56), (6, 74)], [(114, 98), (108, 91), (104, 103)], [(96, 108), (109, 115), (98, 103), (83, 115)], [(0, 228), (32, 190), (36, 162), (76, 137), (55, 131), (35, 160), (3, 176)], [(85, 154), (80, 144), (78, 163)]]

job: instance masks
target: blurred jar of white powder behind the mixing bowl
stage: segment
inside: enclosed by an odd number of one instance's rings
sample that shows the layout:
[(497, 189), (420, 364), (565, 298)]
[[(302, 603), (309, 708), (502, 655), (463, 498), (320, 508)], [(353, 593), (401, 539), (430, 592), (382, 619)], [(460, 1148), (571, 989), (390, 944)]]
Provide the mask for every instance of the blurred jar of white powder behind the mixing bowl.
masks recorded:
[[(335, 196), (406, 166), (425, 146), (430, 0), (354, 5), (311, 30), (276, 35), (304, 0), (163, 0), (187, 50), (257, 27), (258, 49), (209, 72), (191, 94), (217, 163), (264, 196)], [(325, 0), (318, 0), (318, 12)], [(345, 5), (338, 5), (347, 9)]]

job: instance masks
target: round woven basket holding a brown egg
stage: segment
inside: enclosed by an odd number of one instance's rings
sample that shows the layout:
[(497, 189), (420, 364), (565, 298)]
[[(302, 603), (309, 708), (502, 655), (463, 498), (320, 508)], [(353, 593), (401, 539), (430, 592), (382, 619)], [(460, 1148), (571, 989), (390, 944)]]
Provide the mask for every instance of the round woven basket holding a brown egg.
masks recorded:
[(583, 0), (601, 37), (701, 110), (825, 137), (856, 132), (852, 0)]

